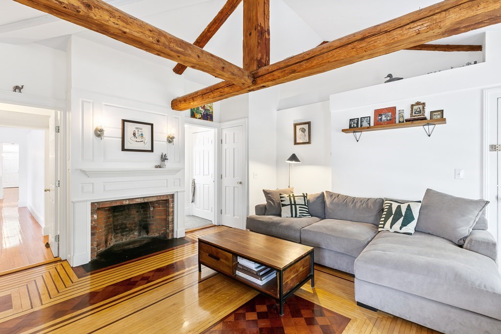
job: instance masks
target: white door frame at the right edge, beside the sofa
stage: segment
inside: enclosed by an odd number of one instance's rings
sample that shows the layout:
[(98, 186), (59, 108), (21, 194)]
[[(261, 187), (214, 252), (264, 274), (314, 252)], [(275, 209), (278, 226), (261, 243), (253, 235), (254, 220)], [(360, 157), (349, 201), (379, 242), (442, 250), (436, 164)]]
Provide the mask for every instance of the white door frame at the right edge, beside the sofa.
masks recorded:
[[(500, 153), (490, 152), (489, 145), (501, 144), (501, 138), (497, 134), (499, 122), (497, 114), (498, 99), (501, 99), (501, 87), (485, 89), (483, 91), (483, 197), (495, 203), (495, 206), (487, 206), (487, 221), (489, 222), (489, 231), (499, 244), (501, 241), (501, 221), (500, 212), (498, 212), (498, 198), (496, 195), (498, 189), (493, 184), (498, 177), (497, 164), (501, 163)], [(500, 194), (501, 195), (501, 194)], [(492, 209), (495, 207), (495, 209)], [(498, 247), (497, 257), (501, 256), (501, 247)]]

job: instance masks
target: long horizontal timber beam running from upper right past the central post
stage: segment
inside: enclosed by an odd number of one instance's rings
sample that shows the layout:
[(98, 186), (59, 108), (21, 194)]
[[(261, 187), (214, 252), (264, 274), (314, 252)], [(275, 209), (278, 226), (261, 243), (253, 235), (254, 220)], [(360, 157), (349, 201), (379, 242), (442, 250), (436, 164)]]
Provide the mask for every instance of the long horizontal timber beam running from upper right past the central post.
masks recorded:
[(172, 100), (171, 108), (187, 110), (497, 23), (499, 0), (445, 0), (261, 68), (252, 86), (218, 83)]

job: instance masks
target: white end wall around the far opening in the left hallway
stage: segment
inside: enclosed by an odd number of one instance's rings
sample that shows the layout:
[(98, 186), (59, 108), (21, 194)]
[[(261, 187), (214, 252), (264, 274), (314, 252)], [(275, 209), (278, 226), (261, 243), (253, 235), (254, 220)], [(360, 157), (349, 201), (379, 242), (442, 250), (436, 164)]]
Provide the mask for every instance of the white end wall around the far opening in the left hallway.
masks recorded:
[(27, 204), (28, 156), (27, 135), (31, 130), (0, 127), (0, 143), (19, 144), (19, 206)]

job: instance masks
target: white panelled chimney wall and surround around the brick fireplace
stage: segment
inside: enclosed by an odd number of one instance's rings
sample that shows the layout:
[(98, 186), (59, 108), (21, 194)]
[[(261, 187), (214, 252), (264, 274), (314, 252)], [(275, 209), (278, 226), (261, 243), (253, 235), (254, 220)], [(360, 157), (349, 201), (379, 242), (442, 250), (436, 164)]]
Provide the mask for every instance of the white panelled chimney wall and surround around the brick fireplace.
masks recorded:
[[(72, 37), (71, 62), (71, 201), (70, 262), (90, 260), (90, 203), (113, 198), (175, 195), (174, 235), (184, 236), (184, 114), (170, 101), (184, 93), (183, 78), (170, 69), (126, 53)], [(121, 120), (154, 124), (154, 152), (122, 152)], [(93, 130), (102, 125), (103, 140)], [(174, 129), (174, 145), (167, 134)], [(82, 170), (153, 168), (160, 153), (175, 175), (89, 178)], [(180, 214), (180, 215), (179, 215)], [(180, 219), (179, 219), (180, 218)]]

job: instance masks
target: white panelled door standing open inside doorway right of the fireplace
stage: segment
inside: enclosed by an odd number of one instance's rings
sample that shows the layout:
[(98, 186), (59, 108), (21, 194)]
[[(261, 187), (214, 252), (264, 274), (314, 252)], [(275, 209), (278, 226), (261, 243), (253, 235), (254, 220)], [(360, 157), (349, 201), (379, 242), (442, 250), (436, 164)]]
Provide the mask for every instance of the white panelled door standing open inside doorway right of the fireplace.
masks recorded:
[(214, 131), (191, 134), (191, 171), (195, 194), (191, 214), (214, 222)]

